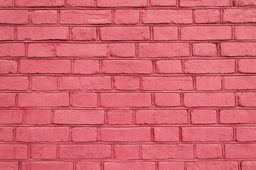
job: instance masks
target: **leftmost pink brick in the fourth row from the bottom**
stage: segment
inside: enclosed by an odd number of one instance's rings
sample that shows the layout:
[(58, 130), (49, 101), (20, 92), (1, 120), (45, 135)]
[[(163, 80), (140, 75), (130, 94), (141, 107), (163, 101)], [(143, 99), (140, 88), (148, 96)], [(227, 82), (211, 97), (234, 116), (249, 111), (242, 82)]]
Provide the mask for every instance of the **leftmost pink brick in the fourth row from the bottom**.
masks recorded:
[(0, 124), (21, 124), (23, 111), (0, 110)]

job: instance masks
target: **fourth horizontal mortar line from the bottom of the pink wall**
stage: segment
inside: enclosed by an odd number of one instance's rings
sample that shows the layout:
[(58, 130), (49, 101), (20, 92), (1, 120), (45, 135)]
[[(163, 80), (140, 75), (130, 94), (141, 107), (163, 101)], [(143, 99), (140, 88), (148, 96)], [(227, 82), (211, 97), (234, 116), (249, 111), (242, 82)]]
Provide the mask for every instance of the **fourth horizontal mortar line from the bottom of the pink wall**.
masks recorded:
[(36, 108), (38, 110), (68, 110), (68, 111), (73, 111), (73, 110), (127, 110), (127, 109), (131, 109), (131, 110), (201, 110), (201, 109), (206, 109), (206, 110), (212, 110), (212, 109), (218, 109), (218, 110), (235, 110), (240, 108), (240, 110), (255, 110), (256, 106), (251, 106), (251, 107), (238, 107), (238, 106), (227, 106), (227, 107), (207, 107), (207, 106), (195, 106), (195, 107), (166, 107), (166, 108), (162, 108), (162, 107), (99, 107), (99, 108), (73, 108), (70, 106), (60, 106), (60, 107), (43, 107), (43, 106), (39, 106), (39, 107), (0, 107), (0, 110), (29, 110), (29, 109), (33, 109), (36, 110)]

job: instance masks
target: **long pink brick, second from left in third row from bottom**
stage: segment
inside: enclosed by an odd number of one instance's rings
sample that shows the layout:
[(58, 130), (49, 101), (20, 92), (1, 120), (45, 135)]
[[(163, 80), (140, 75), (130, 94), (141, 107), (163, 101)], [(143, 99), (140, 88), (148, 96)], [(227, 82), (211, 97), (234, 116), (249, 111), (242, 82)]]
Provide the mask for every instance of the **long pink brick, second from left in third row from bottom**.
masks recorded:
[(68, 142), (68, 128), (17, 128), (17, 142)]

